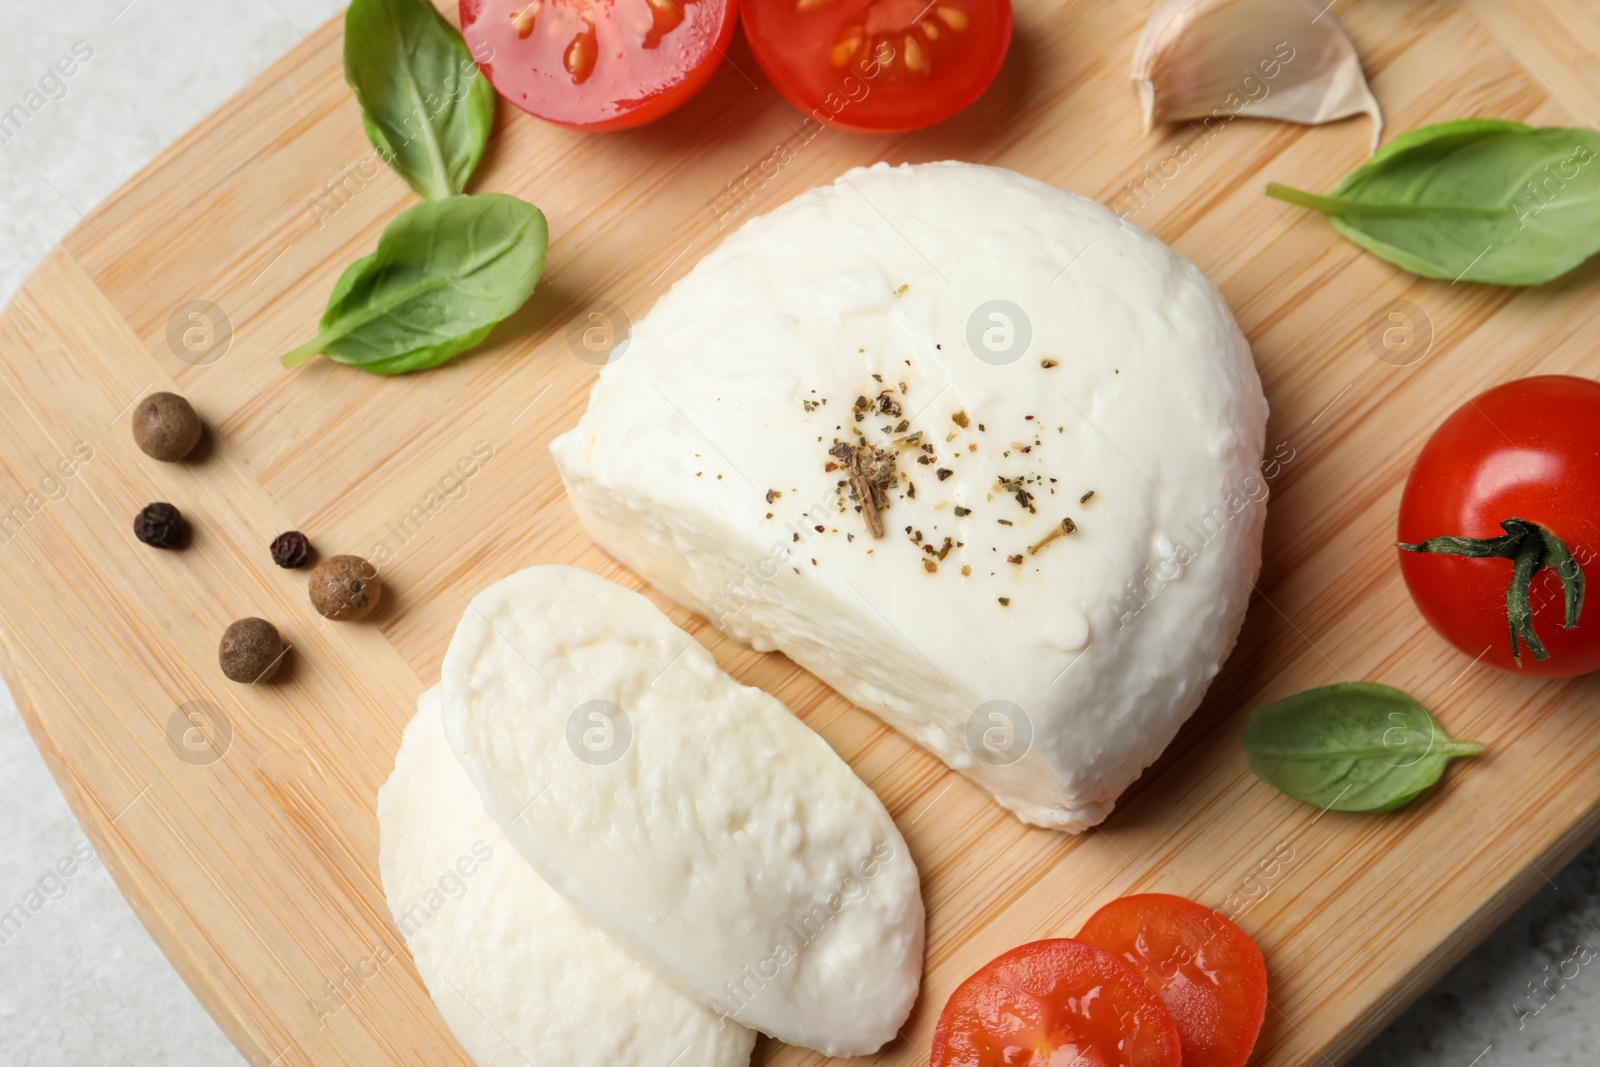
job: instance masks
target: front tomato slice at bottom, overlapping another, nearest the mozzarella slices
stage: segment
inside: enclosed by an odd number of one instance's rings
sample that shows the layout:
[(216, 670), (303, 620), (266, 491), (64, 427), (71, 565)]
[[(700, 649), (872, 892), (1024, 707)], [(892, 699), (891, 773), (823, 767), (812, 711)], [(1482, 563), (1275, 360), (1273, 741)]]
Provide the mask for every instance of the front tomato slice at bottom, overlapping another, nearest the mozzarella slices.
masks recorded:
[(1182, 1067), (1178, 1027), (1139, 974), (1082, 941), (986, 963), (944, 1005), (931, 1067)]

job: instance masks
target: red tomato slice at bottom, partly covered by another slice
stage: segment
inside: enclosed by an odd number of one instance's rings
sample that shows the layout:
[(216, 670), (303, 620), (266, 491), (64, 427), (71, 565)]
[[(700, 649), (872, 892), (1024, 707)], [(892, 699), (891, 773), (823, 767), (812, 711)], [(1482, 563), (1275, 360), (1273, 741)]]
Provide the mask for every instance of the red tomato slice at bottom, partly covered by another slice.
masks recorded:
[(1181, 896), (1112, 901), (1078, 937), (1144, 976), (1178, 1024), (1184, 1067), (1245, 1067), (1267, 1014), (1261, 949), (1221, 912)]

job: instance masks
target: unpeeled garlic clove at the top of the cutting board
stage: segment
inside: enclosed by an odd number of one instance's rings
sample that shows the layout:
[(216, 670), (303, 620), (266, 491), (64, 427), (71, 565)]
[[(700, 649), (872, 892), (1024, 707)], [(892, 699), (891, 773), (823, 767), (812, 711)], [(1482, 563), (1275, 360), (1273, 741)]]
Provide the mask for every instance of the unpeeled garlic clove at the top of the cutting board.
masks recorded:
[(1133, 66), (1146, 133), (1186, 118), (1318, 125), (1366, 114), (1376, 149), (1384, 128), (1355, 45), (1317, 0), (1163, 0)]

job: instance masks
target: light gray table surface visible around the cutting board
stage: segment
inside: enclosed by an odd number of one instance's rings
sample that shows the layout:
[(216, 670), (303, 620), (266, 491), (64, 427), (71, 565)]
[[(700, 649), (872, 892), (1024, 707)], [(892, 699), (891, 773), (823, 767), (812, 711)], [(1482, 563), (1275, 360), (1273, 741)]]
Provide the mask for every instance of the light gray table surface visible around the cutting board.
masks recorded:
[[(0, 0), (0, 112), (38, 104), (21, 128), (0, 128), (0, 301), (82, 213), (341, 6)], [(91, 56), (70, 78), (53, 78), (74, 45)], [(48, 901), (22, 928), (0, 929), (0, 1064), (243, 1064), (106, 869), (77, 862), (85, 854), (83, 832), (0, 688), (0, 912), (29, 893)], [(1549, 875), (1354, 1062), (1600, 1064), (1600, 845)]]

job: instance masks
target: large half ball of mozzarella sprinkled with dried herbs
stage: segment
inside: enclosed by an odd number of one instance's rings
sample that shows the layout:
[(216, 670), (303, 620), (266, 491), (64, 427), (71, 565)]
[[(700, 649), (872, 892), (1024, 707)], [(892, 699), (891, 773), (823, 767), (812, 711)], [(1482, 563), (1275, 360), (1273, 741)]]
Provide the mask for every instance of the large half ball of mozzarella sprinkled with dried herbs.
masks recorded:
[(1011, 171), (880, 163), (707, 254), (550, 450), (664, 593), (1083, 830), (1234, 645), (1266, 416), (1162, 242)]

